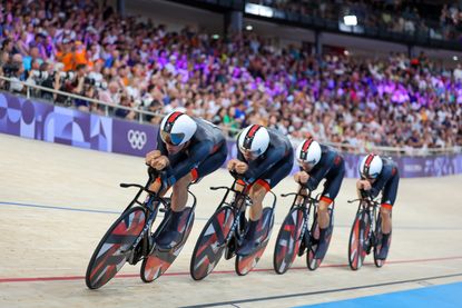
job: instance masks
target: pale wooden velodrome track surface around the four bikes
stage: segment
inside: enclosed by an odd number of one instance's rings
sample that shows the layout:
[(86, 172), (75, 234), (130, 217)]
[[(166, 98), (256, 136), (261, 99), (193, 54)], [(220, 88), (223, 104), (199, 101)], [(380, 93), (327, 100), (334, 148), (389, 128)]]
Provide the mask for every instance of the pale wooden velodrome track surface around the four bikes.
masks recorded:
[[(403, 179), (394, 210), (389, 262), (358, 271), (347, 267), (350, 227), (356, 210), (354, 180), (343, 182), (335, 231), (324, 266), (308, 271), (305, 259), (283, 276), (273, 271), (273, 249), (289, 200), (278, 199), (271, 244), (257, 271), (238, 277), (234, 259), (222, 260), (200, 282), (189, 260), (220, 196), (210, 185), (229, 185), (224, 170), (193, 188), (198, 197), (189, 240), (157, 281), (139, 279), (139, 265), (118, 279), (88, 290), (83, 275), (105, 234), (132, 197), (119, 182), (146, 180), (141, 158), (76, 149), (0, 135), (0, 307), (287, 307), (462, 281), (462, 176)], [(292, 179), (275, 192), (294, 190)]]

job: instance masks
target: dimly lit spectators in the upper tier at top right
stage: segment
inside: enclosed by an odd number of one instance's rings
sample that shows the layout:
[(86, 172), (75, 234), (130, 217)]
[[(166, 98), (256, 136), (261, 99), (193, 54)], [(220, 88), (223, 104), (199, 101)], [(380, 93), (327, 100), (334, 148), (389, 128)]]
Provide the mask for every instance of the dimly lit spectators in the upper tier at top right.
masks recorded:
[[(338, 21), (354, 14), (364, 29), (439, 40), (460, 40), (462, 12), (458, 4), (417, 4), (406, 0), (249, 0), (291, 14)], [(462, 9), (462, 8), (461, 8)], [(438, 12), (441, 14), (438, 16)], [(436, 14), (435, 14), (436, 12)], [(439, 20), (440, 18), (440, 20)]]

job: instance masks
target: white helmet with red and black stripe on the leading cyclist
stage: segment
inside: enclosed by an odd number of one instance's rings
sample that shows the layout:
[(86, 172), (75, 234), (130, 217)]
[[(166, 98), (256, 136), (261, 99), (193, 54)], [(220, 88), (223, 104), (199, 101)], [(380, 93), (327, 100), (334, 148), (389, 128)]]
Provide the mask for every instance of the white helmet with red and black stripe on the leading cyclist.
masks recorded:
[(197, 123), (187, 115), (174, 111), (160, 122), (160, 138), (164, 142), (180, 146), (189, 141), (197, 130)]

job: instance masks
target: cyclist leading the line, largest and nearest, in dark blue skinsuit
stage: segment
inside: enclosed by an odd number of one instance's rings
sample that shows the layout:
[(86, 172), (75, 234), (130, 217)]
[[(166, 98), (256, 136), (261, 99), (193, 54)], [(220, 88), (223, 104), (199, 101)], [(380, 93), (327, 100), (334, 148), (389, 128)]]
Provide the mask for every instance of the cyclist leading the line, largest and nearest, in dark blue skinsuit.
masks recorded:
[(150, 189), (164, 195), (173, 187), (170, 219), (156, 238), (160, 249), (171, 249), (180, 241), (178, 223), (188, 199), (188, 186), (222, 167), (226, 157), (225, 136), (213, 123), (179, 111), (163, 119), (157, 150), (146, 155), (147, 165), (165, 171)]

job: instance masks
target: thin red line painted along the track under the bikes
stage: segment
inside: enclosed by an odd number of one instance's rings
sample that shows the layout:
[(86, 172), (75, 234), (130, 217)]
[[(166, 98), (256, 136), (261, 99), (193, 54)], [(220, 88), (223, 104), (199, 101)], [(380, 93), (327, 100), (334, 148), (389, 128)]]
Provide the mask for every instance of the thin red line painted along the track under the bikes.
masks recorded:
[[(396, 260), (396, 261), (386, 261), (386, 264), (419, 264), (419, 262), (433, 262), (433, 261), (444, 261), (444, 260), (455, 260), (462, 259), (462, 256), (455, 257), (443, 257), (443, 258), (431, 258), (431, 259), (413, 259), (413, 260)], [(373, 262), (366, 262), (364, 265), (373, 265)], [(321, 265), (323, 268), (330, 267), (347, 267), (348, 265)], [(289, 270), (305, 270), (306, 267), (293, 267)], [(273, 271), (273, 268), (256, 268), (252, 271)], [(234, 270), (216, 270), (212, 274), (215, 275), (226, 275), (235, 274)], [(178, 272), (166, 272), (163, 276), (188, 276), (189, 271), (178, 271)], [(115, 278), (138, 278), (139, 274), (120, 274)], [(85, 276), (59, 276), (59, 277), (18, 277), (18, 278), (0, 278), (0, 284), (4, 282), (39, 282), (39, 281), (62, 281), (62, 280), (81, 280), (85, 279)]]

